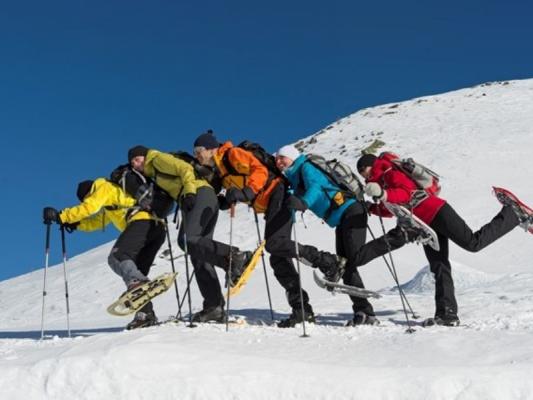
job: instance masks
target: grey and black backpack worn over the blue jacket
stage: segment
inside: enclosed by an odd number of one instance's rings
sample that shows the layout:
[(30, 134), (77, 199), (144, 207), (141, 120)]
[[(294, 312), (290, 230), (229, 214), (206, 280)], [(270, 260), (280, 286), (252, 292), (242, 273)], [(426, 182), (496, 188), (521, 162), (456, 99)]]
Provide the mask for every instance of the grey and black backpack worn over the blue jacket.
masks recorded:
[[(337, 159), (326, 160), (318, 154), (307, 154), (306, 161), (311, 163), (335, 185), (346, 197), (362, 199), (362, 183), (348, 164)], [(300, 179), (301, 181), (301, 179)]]

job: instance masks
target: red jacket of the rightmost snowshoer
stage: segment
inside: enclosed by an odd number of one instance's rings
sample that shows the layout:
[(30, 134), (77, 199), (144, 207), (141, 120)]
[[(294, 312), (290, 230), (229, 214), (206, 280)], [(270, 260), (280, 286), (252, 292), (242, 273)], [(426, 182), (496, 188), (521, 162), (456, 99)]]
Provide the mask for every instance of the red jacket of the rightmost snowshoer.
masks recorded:
[[(367, 182), (379, 183), (387, 193), (387, 201), (389, 203), (401, 204), (407, 207), (413, 194), (419, 190), (411, 178), (397, 168), (394, 168), (390, 161), (381, 158), (378, 158), (374, 162), (370, 178)], [(413, 214), (429, 225), (444, 204), (446, 204), (445, 200), (434, 195), (429, 195), (428, 198), (413, 208)], [(370, 211), (373, 214), (384, 217), (391, 216), (382, 204), (378, 207), (371, 207)]]

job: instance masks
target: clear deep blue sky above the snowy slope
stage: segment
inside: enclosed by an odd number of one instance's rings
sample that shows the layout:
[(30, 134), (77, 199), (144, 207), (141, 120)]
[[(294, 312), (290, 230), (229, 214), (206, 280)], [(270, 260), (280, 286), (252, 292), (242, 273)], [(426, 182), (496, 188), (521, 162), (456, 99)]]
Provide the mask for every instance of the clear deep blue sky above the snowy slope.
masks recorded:
[[(0, 279), (43, 266), (42, 208), (76, 204), (133, 145), (190, 151), (212, 128), (273, 151), (363, 107), (533, 77), (526, 1), (9, 3)], [(76, 232), (67, 251), (116, 236)]]

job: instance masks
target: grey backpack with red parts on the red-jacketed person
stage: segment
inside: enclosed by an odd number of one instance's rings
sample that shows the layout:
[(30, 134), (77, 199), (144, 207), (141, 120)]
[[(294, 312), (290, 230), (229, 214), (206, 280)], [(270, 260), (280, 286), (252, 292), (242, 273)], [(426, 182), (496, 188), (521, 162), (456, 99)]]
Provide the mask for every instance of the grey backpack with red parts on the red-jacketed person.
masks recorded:
[(407, 175), (418, 189), (428, 195), (438, 196), (440, 193), (440, 176), (426, 166), (412, 158), (400, 158), (397, 154), (388, 151), (381, 153), (379, 158), (390, 161), (396, 169)]

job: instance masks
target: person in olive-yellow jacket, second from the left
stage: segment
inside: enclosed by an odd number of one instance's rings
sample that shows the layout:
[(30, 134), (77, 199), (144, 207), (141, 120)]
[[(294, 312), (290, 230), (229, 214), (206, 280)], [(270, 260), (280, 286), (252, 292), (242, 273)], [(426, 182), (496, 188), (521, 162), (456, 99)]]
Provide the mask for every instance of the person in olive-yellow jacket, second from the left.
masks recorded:
[(131, 148), (128, 160), (135, 170), (151, 178), (180, 205), (183, 218), (178, 245), (184, 249), (186, 238), (196, 282), (204, 300), (202, 310), (194, 314), (193, 321), (223, 322), (225, 301), (213, 266), (227, 273), (232, 253), (231, 276), (227, 280), (233, 285), (251, 259), (252, 252), (213, 240), (219, 210), (217, 195), (206, 180), (196, 176), (190, 163), (145, 146)]

